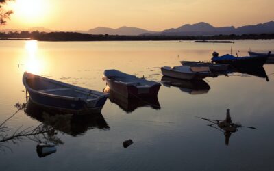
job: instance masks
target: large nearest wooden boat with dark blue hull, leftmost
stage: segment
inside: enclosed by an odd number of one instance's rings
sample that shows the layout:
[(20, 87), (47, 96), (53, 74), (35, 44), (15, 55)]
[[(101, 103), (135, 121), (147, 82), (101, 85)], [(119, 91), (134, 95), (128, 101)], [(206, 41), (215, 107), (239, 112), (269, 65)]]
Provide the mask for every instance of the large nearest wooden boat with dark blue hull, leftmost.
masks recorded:
[(108, 99), (108, 94), (62, 83), (25, 72), (23, 84), (32, 102), (61, 111), (100, 112)]

